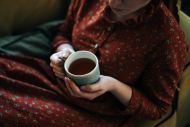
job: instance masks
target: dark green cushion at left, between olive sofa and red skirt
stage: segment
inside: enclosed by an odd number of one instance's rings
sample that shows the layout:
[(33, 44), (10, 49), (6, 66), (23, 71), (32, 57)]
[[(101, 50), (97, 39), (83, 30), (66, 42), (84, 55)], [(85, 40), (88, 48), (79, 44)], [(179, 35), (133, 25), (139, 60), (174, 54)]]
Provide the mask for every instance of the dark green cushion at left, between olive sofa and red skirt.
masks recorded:
[(2, 37), (0, 38), (0, 53), (49, 60), (52, 54), (51, 41), (62, 23), (62, 20), (51, 21), (22, 34)]

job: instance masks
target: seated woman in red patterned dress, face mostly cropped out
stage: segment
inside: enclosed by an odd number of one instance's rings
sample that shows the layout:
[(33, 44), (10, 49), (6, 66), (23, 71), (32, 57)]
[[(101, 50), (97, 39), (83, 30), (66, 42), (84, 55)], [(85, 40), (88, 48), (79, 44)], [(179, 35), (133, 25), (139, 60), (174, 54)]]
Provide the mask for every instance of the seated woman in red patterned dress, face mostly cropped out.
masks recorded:
[[(1, 55), (4, 126), (130, 127), (159, 119), (187, 57), (184, 35), (159, 0), (72, 0), (53, 48), (53, 71), (39, 59)], [(98, 56), (97, 83), (78, 87), (64, 76), (60, 57), (75, 50)]]

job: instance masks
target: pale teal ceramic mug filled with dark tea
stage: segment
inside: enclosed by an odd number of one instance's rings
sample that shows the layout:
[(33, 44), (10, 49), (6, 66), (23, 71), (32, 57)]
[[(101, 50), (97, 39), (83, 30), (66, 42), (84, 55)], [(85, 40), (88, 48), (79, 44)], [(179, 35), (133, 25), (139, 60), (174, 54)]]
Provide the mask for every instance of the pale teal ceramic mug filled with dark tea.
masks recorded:
[(98, 59), (89, 51), (77, 51), (69, 55), (64, 69), (66, 75), (79, 86), (93, 84), (100, 77)]

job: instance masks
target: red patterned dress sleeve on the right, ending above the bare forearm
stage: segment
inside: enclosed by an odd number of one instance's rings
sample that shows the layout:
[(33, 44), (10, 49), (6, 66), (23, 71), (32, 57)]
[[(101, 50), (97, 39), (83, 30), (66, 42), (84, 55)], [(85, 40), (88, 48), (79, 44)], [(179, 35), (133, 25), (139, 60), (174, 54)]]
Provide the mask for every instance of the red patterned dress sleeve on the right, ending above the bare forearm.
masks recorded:
[(167, 112), (183, 72), (187, 52), (188, 46), (183, 36), (173, 36), (160, 44), (151, 54), (149, 65), (142, 74), (139, 90), (132, 90), (127, 114), (158, 119)]

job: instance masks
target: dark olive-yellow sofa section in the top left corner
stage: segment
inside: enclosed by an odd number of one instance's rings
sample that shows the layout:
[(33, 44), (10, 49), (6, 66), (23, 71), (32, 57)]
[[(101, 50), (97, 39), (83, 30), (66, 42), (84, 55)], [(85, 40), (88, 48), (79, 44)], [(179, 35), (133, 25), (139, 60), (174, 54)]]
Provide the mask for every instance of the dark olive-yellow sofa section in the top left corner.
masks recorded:
[(0, 0), (0, 36), (64, 17), (68, 1)]

